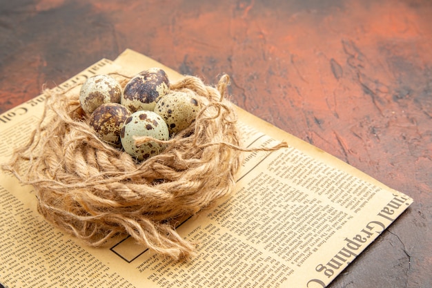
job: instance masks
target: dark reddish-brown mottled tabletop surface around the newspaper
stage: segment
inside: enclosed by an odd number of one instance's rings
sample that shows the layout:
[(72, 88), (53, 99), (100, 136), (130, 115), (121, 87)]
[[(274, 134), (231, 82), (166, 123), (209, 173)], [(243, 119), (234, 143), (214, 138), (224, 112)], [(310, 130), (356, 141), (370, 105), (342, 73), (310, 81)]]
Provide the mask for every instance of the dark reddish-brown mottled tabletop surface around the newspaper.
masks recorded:
[(432, 287), (432, 1), (0, 0), (0, 112), (137, 50), (414, 204), (331, 287)]

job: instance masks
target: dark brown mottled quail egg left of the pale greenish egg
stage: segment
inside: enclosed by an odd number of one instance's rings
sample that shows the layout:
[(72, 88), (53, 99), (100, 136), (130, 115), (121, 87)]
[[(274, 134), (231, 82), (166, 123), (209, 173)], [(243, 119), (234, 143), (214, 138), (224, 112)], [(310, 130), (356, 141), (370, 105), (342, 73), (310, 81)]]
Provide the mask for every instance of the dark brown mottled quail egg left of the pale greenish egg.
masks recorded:
[(104, 103), (93, 111), (89, 124), (101, 140), (115, 148), (121, 148), (120, 131), (129, 116), (130, 111), (125, 106)]

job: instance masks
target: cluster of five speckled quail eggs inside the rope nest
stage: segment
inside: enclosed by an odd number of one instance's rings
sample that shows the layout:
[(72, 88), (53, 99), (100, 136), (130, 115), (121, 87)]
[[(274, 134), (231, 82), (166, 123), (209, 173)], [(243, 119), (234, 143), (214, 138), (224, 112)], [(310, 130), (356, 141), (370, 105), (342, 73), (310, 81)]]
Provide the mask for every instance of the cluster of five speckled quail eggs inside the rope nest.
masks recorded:
[(170, 90), (168, 76), (160, 68), (142, 71), (124, 88), (109, 75), (89, 77), (79, 102), (99, 138), (137, 160), (159, 154), (164, 146), (156, 142), (137, 146), (135, 137), (168, 140), (190, 126), (199, 112), (197, 99)]

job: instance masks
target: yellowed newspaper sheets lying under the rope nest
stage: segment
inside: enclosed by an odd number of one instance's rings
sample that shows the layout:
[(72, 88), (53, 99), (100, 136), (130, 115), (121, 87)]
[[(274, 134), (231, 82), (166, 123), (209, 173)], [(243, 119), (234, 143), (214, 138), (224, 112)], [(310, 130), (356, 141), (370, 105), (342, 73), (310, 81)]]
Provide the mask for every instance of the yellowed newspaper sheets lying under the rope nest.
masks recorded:
[[(166, 70), (132, 50), (101, 59), (57, 86), (127, 68)], [(44, 96), (0, 115), (0, 162), (28, 140)], [(235, 193), (178, 227), (197, 256), (174, 261), (131, 238), (91, 248), (46, 222), (31, 186), (0, 177), (0, 283), (4, 287), (326, 287), (413, 202), (369, 175), (237, 108), (246, 153)]]

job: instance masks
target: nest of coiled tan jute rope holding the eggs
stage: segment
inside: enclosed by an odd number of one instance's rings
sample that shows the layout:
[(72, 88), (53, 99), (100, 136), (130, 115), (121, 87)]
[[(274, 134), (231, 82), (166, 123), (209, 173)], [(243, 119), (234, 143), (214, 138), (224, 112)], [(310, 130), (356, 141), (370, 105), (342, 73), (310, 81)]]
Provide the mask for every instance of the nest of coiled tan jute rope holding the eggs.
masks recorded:
[[(35, 187), (38, 211), (47, 220), (90, 246), (128, 234), (164, 256), (187, 258), (195, 247), (179, 236), (175, 220), (229, 195), (242, 151), (251, 151), (240, 146), (237, 117), (224, 99), (228, 82), (224, 75), (217, 88), (197, 77), (172, 84), (171, 90), (193, 94), (204, 108), (193, 125), (164, 142), (163, 153), (141, 163), (99, 140), (77, 93), (47, 91), (30, 142), (3, 169)], [(149, 140), (156, 141), (141, 137), (137, 144)], [(27, 169), (19, 171), (23, 162)]]

